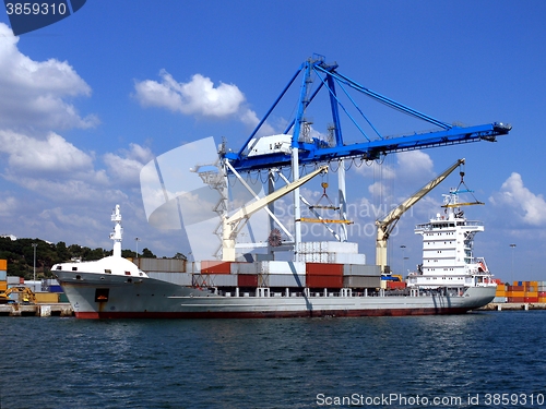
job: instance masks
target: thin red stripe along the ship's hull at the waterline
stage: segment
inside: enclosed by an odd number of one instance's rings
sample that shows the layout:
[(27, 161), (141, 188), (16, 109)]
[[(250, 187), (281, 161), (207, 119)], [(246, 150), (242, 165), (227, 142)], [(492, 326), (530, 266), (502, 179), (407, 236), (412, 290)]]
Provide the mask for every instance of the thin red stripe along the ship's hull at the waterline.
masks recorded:
[(76, 312), (78, 318), (292, 318), (324, 316), (404, 316), (463, 314), (467, 308), (451, 309), (385, 309), (353, 311), (272, 311), (272, 312)]

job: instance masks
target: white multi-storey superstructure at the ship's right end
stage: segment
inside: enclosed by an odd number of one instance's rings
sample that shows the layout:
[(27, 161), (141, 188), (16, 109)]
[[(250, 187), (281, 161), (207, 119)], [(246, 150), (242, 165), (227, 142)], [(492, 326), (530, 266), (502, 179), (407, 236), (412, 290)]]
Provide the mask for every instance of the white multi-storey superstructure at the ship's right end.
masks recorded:
[(423, 236), (423, 264), (410, 274), (407, 286), (425, 289), (438, 287), (496, 286), (485, 258), (473, 253), (474, 236), (484, 231), (482, 221), (467, 220), (459, 203), (459, 191), (444, 195), (444, 214), (429, 222), (417, 225)]

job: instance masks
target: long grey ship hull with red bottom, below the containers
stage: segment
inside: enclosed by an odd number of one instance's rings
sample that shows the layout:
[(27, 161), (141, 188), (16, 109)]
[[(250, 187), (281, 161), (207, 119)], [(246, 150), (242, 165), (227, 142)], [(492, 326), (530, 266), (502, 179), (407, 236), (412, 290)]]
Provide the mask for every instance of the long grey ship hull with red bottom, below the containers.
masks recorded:
[(154, 278), (56, 272), (79, 318), (277, 318), (460, 314), (486, 305), (495, 287), (470, 287), (462, 294), (341, 297), (302, 292), (285, 297), (216, 296)]

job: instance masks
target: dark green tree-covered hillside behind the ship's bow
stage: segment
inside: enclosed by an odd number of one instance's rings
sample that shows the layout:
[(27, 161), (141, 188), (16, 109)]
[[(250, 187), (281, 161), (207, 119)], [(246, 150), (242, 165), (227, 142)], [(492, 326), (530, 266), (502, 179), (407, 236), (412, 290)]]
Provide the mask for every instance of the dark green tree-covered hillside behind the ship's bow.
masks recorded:
[[(25, 279), (34, 277), (34, 246), (36, 245), (36, 279), (50, 278), (51, 267), (56, 263), (69, 262), (71, 260), (92, 261), (111, 255), (111, 250), (90, 249), (79, 244), (67, 245), (63, 241), (57, 244), (48, 243), (40, 239), (0, 238), (0, 260), (8, 260), (8, 275), (20, 276)], [(122, 250), (122, 257), (135, 257), (136, 253), (131, 250)], [(157, 258), (149, 249), (139, 252), (140, 257)]]

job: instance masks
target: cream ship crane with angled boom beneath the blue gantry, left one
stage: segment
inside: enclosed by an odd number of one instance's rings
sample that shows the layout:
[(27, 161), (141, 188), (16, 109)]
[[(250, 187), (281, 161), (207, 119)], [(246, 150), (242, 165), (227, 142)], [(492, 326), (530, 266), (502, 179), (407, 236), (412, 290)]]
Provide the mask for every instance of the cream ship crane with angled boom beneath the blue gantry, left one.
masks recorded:
[(317, 175), (323, 172), (328, 172), (328, 166), (321, 166), (317, 170), (304, 176), (302, 178), (299, 178), (295, 182), (288, 183), (285, 187), (277, 189), (273, 193), (250, 203), (248, 206), (240, 208), (230, 217), (225, 217), (223, 220), (222, 260), (225, 262), (235, 261), (235, 238), (238, 233), (238, 227), (241, 221), (248, 219), (256, 212), (268, 206), (270, 203), (283, 197), (285, 194), (290, 193), (292, 191), (310, 181)]

